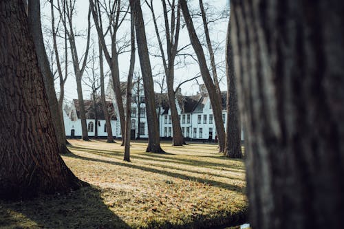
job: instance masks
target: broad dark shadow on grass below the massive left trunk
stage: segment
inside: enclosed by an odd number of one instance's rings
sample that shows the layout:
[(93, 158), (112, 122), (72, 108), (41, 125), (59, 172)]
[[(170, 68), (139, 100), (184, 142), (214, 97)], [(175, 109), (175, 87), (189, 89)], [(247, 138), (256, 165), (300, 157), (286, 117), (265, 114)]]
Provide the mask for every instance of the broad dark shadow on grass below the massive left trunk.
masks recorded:
[(130, 228), (93, 186), (66, 195), (0, 201), (0, 228)]

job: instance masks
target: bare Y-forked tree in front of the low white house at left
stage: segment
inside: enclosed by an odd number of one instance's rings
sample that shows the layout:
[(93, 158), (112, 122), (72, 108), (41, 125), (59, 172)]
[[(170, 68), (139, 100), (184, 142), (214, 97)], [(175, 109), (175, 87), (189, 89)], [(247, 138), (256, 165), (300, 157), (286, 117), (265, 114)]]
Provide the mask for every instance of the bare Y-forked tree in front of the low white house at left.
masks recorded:
[[(83, 102), (83, 87), (82, 87), (82, 79), (83, 73), (85, 71), (85, 67), (87, 64), (87, 56), (89, 52), (89, 39), (91, 34), (91, 10), (89, 9), (88, 16), (87, 16), (87, 44), (85, 47), (85, 52), (83, 53), (83, 62), (80, 62), (78, 50), (76, 48), (76, 34), (74, 32), (74, 14), (75, 14), (75, 3), (76, 0), (66, 0), (64, 1), (64, 7), (61, 7), (59, 0), (57, 2), (57, 10), (60, 14), (60, 19), (63, 21), (63, 25), (65, 27), (65, 31), (67, 32), (67, 37), (69, 40), (70, 51), (72, 53), (72, 62), (74, 67), (74, 74), (76, 78), (76, 91), (78, 92), (78, 101), (80, 106), (80, 121), (81, 121), (81, 129), (83, 140), (89, 140), (88, 132), (87, 132), (87, 124), (86, 124), (86, 114), (85, 114), (85, 105)], [(65, 13), (66, 19), (63, 18)], [(80, 65), (81, 63), (81, 65)]]

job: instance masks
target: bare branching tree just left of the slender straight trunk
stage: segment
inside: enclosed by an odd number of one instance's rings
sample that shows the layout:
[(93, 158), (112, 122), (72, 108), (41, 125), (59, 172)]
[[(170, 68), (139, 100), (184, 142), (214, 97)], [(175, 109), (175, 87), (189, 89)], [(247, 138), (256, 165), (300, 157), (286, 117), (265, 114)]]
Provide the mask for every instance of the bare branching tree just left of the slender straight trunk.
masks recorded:
[[(122, 93), (120, 89), (120, 71), (118, 67), (118, 56), (121, 52), (125, 50), (129, 45), (125, 43), (122, 47), (118, 48), (118, 29), (122, 22), (125, 20), (127, 11), (120, 18), (120, 13), (122, 12), (122, 5), (120, 0), (114, 1), (103, 1), (100, 3), (99, 0), (89, 0), (89, 6), (92, 10), (92, 15), (94, 23), (96, 25), (96, 30), (98, 34), (99, 41), (102, 45), (103, 52), (105, 54), (105, 59), (111, 70), (112, 82), (114, 84), (114, 92), (116, 97), (116, 102), (118, 106), (118, 113), (120, 118), (120, 131), (122, 134), (122, 146), (125, 144), (125, 109), (122, 102)], [(107, 19), (109, 25), (107, 26), (107, 32), (103, 32), (103, 19), (101, 10), (104, 10), (107, 14)], [(107, 49), (107, 44), (105, 42), (105, 36), (107, 33), (111, 37), (111, 52)]]

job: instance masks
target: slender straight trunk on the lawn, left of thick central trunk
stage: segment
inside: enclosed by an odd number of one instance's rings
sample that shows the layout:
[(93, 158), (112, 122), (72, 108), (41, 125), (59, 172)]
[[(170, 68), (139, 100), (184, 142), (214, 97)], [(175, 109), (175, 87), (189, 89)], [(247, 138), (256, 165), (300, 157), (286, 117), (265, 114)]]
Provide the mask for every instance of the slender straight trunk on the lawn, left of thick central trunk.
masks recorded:
[(131, 133), (131, 89), (133, 81), (133, 68), (135, 67), (135, 19), (133, 14), (130, 15), (131, 21), (131, 55), (130, 55), (130, 67), (127, 79), (127, 119), (125, 121), (125, 156), (124, 159), (130, 162), (130, 133)]

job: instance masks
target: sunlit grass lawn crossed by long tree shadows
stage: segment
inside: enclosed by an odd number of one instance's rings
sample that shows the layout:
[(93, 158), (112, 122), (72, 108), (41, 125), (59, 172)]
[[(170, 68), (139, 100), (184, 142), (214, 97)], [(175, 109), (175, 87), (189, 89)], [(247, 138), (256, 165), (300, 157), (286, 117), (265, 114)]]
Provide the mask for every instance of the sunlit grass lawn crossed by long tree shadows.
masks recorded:
[(147, 142), (124, 146), (69, 140), (67, 166), (91, 184), (68, 195), (0, 201), (0, 228), (225, 228), (244, 223), (247, 210), (242, 160), (215, 144), (171, 146), (145, 153)]

